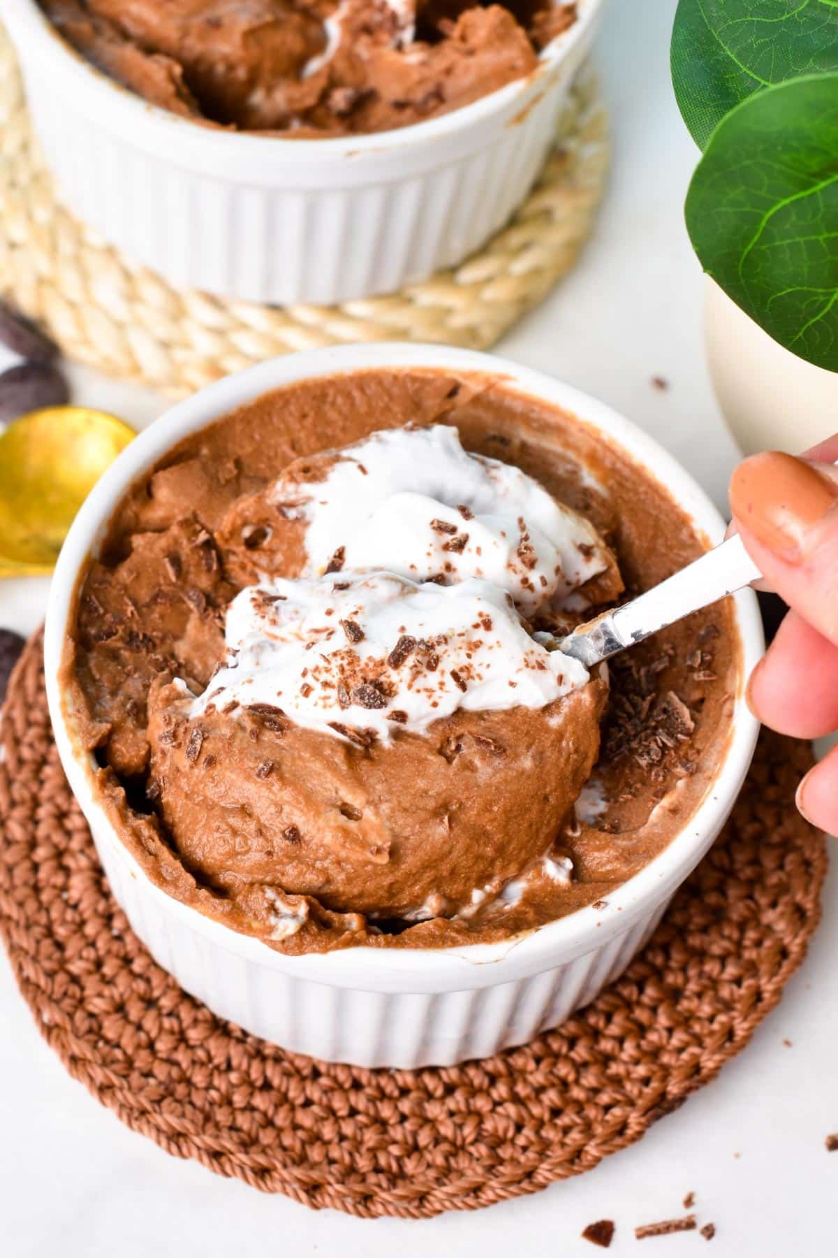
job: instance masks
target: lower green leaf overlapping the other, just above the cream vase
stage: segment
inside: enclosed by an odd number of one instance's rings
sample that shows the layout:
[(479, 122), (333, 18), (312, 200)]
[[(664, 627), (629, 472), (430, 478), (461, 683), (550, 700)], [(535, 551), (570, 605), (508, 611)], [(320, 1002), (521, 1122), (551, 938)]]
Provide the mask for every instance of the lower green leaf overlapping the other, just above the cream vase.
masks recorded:
[(686, 219), (727, 296), (786, 350), (838, 371), (838, 74), (792, 79), (729, 113)]

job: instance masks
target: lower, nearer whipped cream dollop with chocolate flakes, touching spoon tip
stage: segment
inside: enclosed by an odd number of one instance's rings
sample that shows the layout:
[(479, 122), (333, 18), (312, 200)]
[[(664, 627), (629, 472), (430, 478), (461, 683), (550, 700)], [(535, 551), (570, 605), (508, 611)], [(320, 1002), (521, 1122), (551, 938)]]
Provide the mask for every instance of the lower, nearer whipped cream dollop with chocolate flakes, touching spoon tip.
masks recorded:
[(474, 577), (440, 586), (338, 572), (249, 586), (227, 609), (226, 644), (229, 664), (192, 716), (269, 703), (348, 741), (359, 730), (383, 742), (393, 730), (423, 733), (457, 708), (540, 708), (588, 681), (583, 664), (530, 637), (503, 590)]

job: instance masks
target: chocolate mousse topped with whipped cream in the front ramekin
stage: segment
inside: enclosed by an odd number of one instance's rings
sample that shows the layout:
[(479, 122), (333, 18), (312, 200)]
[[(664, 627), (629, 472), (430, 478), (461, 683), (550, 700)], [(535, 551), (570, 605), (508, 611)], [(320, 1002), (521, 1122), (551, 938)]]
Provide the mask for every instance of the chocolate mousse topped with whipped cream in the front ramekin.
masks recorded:
[(123, 498), (77, 591), (72, 723), (146, 873), (237, 931), (511, 937), (606, 905), (710, 789), (740, 672), (725, 603), (590, 674), (550, 649), (704, 546), (503, 377), (298, 382)]

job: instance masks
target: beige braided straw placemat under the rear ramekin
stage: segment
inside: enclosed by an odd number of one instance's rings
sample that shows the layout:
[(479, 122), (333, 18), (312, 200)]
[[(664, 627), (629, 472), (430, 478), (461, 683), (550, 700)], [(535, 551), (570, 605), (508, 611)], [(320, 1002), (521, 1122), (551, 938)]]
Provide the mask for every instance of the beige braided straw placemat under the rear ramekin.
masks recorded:
[(104, 244), (55, 199), (0, 24), (0, 294), (69, 359), (167, 392), (191, 392), (274, 355), (352, 341), (485, 350), (569, 272), (608, 172), (606, 109), (584, 70), (560, 147), (508, 228), (460, 267), (387, 297), (261, 306), (178, 291)]

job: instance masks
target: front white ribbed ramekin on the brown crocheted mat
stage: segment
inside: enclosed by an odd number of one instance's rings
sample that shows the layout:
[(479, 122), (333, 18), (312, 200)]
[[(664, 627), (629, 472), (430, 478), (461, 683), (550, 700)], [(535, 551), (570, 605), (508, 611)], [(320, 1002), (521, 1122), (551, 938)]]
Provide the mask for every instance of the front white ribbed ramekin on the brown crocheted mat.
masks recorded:
[(646, 942), (672, 893), (706, 853), (748, 770), (756, 721), (744, 677), (763, 650), (751, 591), (735, 596), (743, 682), (719, 775), (670, 847), (608, 896), (540, 930), (498, 945), (446, 950), (358, 947), (284, 956), (188, 908), (156, 887), (119, 840), (93, 790), (93, 759), (67, 716), (62, 649), (80, 567), (95, 552), (128, 486), (187, 433), (269, 389), (363, 367), (503, 372), (510, 385), (582, 418), (647, 468), (695, 525), (721, 540), (722, 520), (690, 476), (651, 438), (602, 403), (501, 359), (437, 346), (313, 350), (259, 364), (173, 406), (119, 455), (79, 512), (58, 560), (46, 611), (46, 691), (55, 738), (113, 893), (152, 955), (215, 1013), (294, 1052), (359, 1066), (418, 1067), (484, 1057), (562, 1023), (617, 977)]

